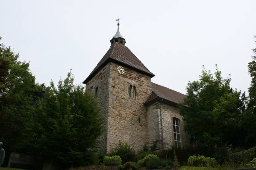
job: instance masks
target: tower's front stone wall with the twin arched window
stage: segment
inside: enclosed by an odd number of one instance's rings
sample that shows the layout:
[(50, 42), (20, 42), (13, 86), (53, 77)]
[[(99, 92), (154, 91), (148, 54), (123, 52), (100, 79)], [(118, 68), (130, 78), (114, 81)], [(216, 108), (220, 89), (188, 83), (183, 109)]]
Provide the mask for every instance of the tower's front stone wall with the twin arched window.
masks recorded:
[[(147, 113), (143, 102), (151, 93), (151, 78), (126, 67), (124, 74), (120, 74), (118, 66), (110, 63), (107, 152), (118, 141), (141, 150), (148, 141)], [(136, 99), (128, 94), (130, 85), (136, 86)]]

